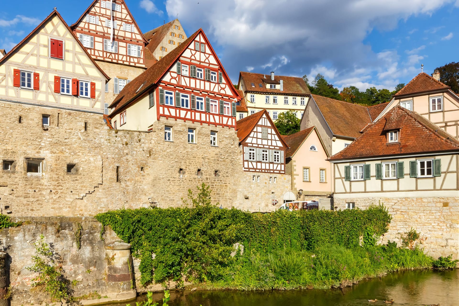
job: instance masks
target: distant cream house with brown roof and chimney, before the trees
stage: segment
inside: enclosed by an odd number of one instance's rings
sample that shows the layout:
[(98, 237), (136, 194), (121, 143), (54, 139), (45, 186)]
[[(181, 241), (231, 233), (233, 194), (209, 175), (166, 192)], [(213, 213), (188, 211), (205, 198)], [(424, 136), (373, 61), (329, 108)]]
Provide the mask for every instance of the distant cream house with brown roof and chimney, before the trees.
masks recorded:
[(289, 110), (301, 118), (311, 94), (302, 78), (278, 76), (274, 72), (266, 75), (241, 71), (238, 86), (244, 94), (248, 110), (248, 115), (243, 111), (238, 112), (238, 120), (263, 109), (274, 121), (280, 113)]

